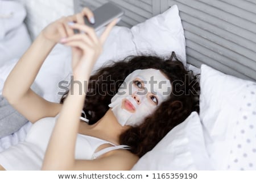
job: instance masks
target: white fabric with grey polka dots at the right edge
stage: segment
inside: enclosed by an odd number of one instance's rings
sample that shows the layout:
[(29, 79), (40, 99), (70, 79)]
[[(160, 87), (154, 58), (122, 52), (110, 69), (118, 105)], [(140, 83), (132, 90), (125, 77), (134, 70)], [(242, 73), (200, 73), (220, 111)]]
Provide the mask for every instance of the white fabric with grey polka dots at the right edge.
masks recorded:
[(228, 169), (256, 169), (256, 84), (248, 83), (238, 111)]

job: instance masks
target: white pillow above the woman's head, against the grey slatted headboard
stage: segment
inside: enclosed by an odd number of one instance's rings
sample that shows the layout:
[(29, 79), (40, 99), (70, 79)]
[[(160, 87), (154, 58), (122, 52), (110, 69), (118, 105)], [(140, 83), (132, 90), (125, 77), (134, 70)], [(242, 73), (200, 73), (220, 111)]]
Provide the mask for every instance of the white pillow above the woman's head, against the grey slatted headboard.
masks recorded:
[(115, 26), (105, 42), (104, 52), (97, 60), (94, 71), (108, 60), (117, 61), (130, 55), (142, 54), (170, 57), (172, 51), (185, 65), (185, 37), (177, 5), (131, 29)]

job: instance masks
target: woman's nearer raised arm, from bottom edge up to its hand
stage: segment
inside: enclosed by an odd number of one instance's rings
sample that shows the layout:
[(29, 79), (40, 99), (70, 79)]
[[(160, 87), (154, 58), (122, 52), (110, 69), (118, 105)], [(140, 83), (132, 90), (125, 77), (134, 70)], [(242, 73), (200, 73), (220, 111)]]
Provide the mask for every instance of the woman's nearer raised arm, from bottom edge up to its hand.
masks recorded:
[[(81, 84), (74, 84), (73, 92), (69, 92), (64, 101), (48, 143), (42, 166), (44, 170), (75, 169), (75, 144), (79, 129), (79, 118), (88, 86), (87, 83), (92, 68), (98, 56), (100, 56), (102, 46), (115, 23), (117, 23), (117, 20), (114, 20), (106, 27), (100, 38), (97, 38), (93, 28), (80, 23), (73, 24), (72, 28), (86, 33), (73, 35), (63, 40), (65, 45), (76, 47), (81, 51), (80, 59), (73, 60), (74, 81)], [(80, 86), (82, 86), (82, 93), (80, 92)]]

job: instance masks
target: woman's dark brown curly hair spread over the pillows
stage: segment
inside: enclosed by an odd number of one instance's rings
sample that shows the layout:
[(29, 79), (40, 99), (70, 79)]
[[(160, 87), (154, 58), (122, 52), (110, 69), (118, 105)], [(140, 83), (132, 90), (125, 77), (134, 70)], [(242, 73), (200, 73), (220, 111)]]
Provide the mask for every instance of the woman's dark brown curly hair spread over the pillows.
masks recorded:
[[(175, 59), (175, 60), (174, 60)], [(199, 112), (199, 82), (192, 71), (187, 71), (174, 52), (170, 59), (156, 56), (129, 56), (99, 69), (90, 77), (85, 98), (86, 118), (89, 125), (96, 123), (109, 110), (111, 98), (118, 92), (125, 78), (136, 69), (159, 69), (171, 81), (172, 92), (154, 113), (137, 127), (130, 127), (119, 137), (120, 144), (130, 146), (133, 154), (141, 157), (192, 111)], [(111, 80), (109, 80), (111, 76)], [(114, 84), (110, 84), (114, 81)], [(63, 102), (63, 100), (62, 100)]]

